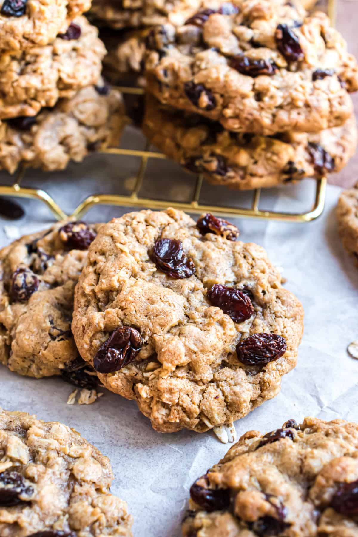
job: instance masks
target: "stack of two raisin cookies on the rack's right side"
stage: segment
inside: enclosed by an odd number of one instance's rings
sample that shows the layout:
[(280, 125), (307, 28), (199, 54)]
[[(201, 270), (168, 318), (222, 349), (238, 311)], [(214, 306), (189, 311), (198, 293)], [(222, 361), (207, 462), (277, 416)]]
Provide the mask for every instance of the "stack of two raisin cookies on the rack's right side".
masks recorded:
[(187, 170), (246, 189), (323, 177), (354, 153), (357, 64), (324, 13), (213, 0), (146, 47), (143, 129)]

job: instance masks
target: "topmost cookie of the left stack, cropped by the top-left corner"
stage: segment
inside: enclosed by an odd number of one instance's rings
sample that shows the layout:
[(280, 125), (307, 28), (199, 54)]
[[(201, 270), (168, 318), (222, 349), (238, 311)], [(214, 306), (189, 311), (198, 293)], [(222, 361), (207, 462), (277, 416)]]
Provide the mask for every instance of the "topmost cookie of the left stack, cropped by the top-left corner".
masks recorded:
[(48, 45), (90, 6), (91, 0), (1, 0), (0, 50)]

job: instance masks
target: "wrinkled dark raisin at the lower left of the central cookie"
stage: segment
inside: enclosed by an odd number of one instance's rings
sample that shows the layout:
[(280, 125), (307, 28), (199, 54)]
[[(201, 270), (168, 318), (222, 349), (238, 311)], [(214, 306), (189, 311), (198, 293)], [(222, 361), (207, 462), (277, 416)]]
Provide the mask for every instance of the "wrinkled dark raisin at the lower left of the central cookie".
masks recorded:
[(135, 328), (119, 326), (97, 351), (93, 367), (99, 373), (119, 371), (135, 360), (140, 352), (143, 340)]

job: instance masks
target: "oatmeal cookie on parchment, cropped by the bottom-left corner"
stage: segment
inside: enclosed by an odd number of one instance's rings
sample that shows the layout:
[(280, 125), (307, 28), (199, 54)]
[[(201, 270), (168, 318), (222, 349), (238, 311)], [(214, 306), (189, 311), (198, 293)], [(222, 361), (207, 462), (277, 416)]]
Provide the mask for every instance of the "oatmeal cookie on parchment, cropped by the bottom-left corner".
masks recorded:
[(132, 537), (107, 457), (59, 422), (0, 409), (0, 534)]

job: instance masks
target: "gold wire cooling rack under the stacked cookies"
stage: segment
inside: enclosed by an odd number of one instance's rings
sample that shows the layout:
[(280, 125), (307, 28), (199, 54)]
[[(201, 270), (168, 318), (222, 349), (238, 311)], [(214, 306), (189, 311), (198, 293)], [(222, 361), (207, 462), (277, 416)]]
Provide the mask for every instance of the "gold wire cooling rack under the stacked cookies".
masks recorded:
[[(328, 0), (326, 9), (328, 16), (330, 16), (332, 24), (335, 21), (335, 10), (337, 0)], [(118, 88), (123, 93), (131, 93), (141, 95), (143, 90), (139, 88)], [(200, 203), (200, 193), (203, 188), (203, 178), (198, 176), (196, 178), (196, 186), (194, 196), (189, 202), (178, 202), (175, 200), (157, 200), (152, 198), (143, 198), (140, 196), (141, 186), (145, 180), (145, 172), (149, 159), (166, 159), (166, 156), (162, 153), (156, 153), (155, 151), (149, 151), (150, 143), (147, 143), (144, 151), (136, 149), (120, 149), (109, 148), (103, 151), (107, 154), (118, 155), (119, 158), (122, 155), (134, 156), (138, 158), (138, 173), (136, 176), (135, 186), (133, 191), (128, 195), (115, 195), (115, 194), (94, 194), (87, 197), (81, 204), (79, 204), (75, 211), (71, 214), (65, 214), (61, 207), (56, 204), (55, 200), (50, 197), (45, 191), (38, 188), (25, 188), (21, 186), (21, 181), (26, 173), (26, 168), (21, 168), (15, 178), (14, 183), (11, 186), (0, 185), (0, 195), (11, 196), (16, 198), (32, 198), (43, 202), (52, 211), (55, 217), (59, 220), (67, 218), (68, 216), (79, 218), (82, 217), (91, 207), (94, 205), (117, 205), (136, 208), (152, 208), (152, 209), (165, 209), (168, 206), (181, 209), (191, 213), (215, 213), (225, 217), (246, 217), (268, 220), (281, 220), (286, 222), (310, 222), (316, 219), (322, 214), (325, 203), (326, 194), (326, 177), (322, 179), (316, 179), (316, 193), (312, 207), (303, 213), (281, 213), (275, 211), (264, 211), (259, 207), (261, 189), (257, 188), (253, 191), (251, 208), (240, 208), (235, 206), (219, 206), (219, 205), (203, 205)], [(226, 188), (222, 186), (221, 188)], [(235, 197), (240, 196), (240, 191), (233, 192)]]

